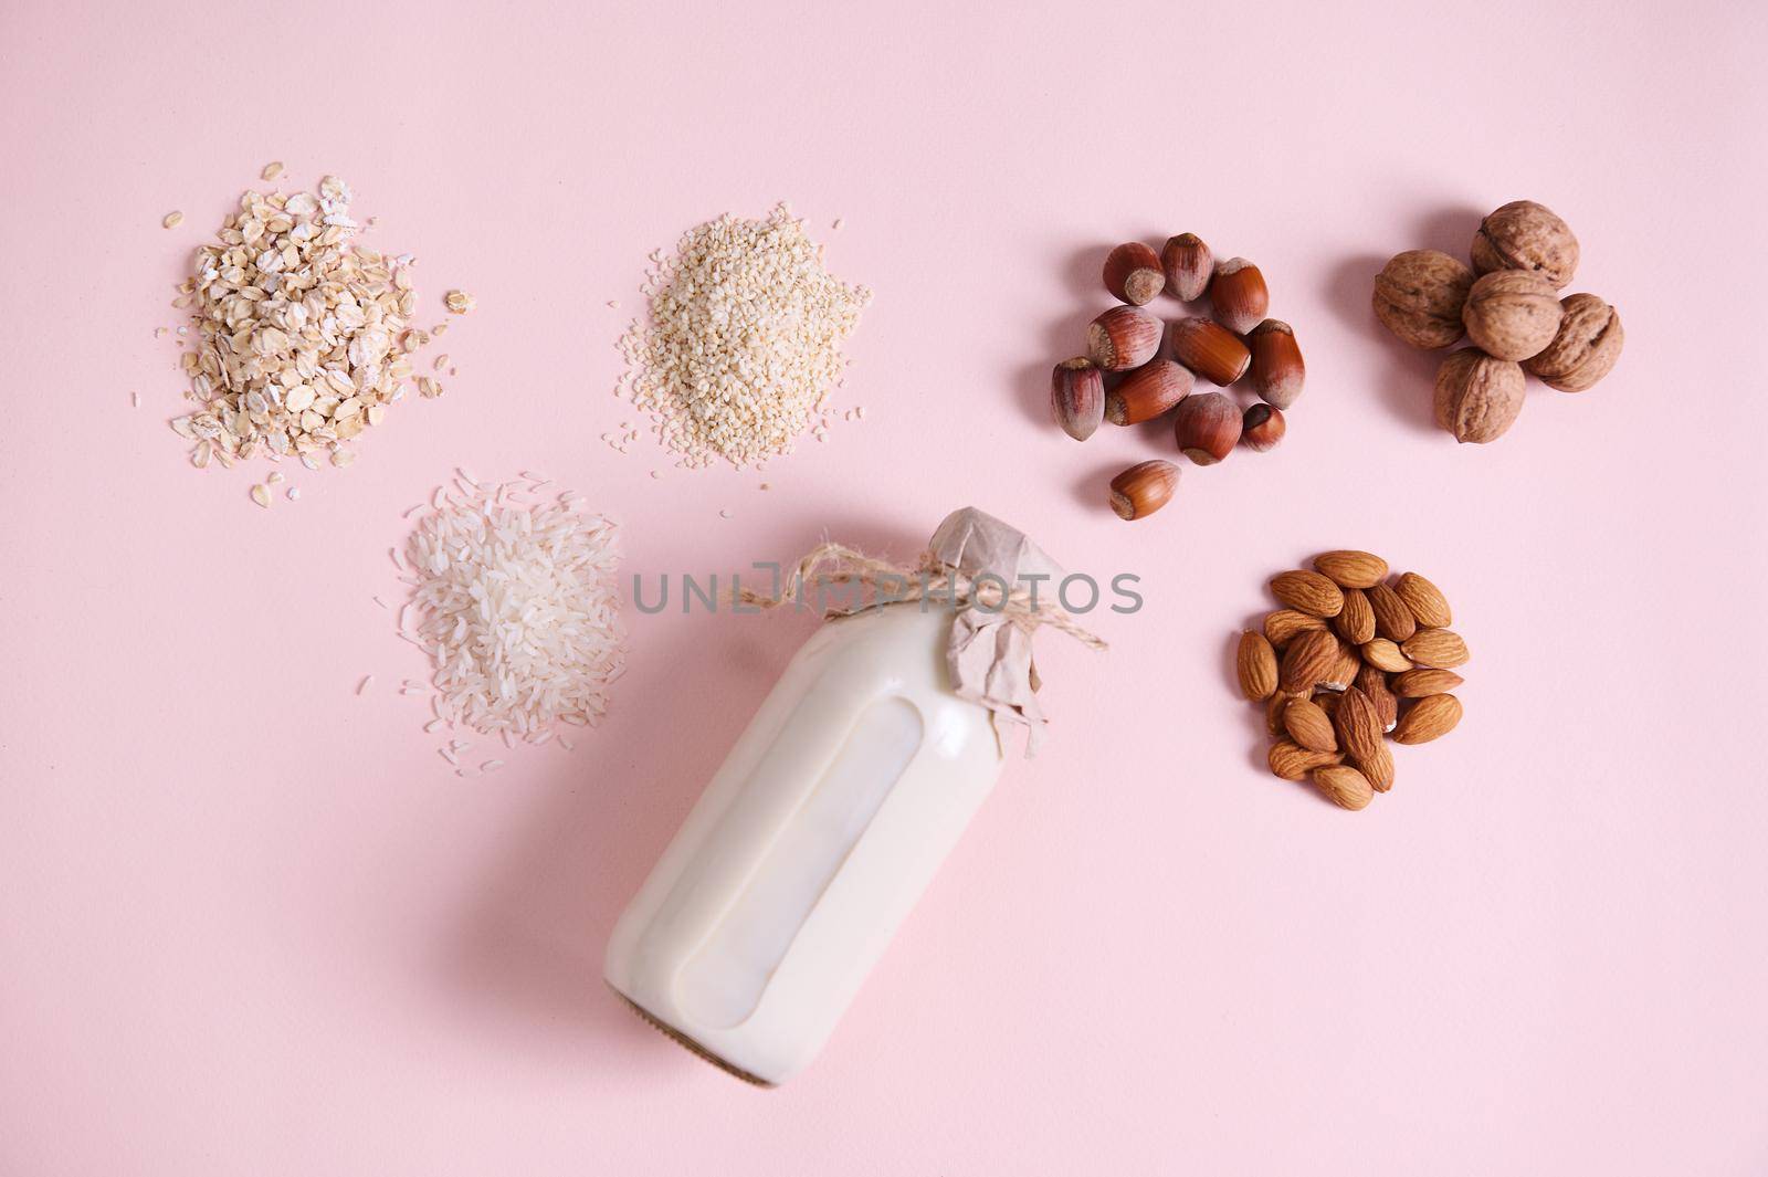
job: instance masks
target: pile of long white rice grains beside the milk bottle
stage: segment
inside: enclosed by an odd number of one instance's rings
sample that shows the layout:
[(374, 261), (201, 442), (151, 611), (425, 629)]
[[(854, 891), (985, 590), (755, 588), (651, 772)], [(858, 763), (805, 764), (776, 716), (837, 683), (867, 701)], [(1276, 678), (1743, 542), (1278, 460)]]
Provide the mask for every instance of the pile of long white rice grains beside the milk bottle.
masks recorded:
[(594, 726), (624, 666), (617, 528), (546, 481), (437, 490), (394, 562), (412, 597), (400, 633), (435, 663), (437, 721), (543, 742)]

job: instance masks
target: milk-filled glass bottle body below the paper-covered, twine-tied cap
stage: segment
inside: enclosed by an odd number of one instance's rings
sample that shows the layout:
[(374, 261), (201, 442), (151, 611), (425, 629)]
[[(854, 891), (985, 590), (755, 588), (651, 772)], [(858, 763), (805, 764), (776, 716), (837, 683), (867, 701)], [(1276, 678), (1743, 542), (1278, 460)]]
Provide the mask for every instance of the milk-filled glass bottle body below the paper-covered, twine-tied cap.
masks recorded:
[(817, 1055), (1001, 774), (949, 629), (893, 604), (794, 656), (615, 926), (605, 976), (647, 1020), (762, 1083)]

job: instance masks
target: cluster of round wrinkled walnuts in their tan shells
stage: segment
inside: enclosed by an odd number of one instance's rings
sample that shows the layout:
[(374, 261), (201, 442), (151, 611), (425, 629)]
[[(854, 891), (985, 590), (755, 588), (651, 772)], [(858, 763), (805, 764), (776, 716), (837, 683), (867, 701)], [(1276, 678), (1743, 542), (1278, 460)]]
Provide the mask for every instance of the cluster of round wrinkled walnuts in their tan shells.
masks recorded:
[(1524, 369), (1582, 392), (1621, 357), (1621, 316), (1597, 295), (1559, 299), (1577, 237), (1545, 205), (1513, 200), (1480, 223), (1473, 269), (1407, 249), (1376, 276), (1376, 316), (1414, 348), (1460, 348), (1437, 369), (1436, 422), (1457, 442), (1490, 442), (1522, 412)]

